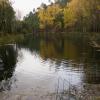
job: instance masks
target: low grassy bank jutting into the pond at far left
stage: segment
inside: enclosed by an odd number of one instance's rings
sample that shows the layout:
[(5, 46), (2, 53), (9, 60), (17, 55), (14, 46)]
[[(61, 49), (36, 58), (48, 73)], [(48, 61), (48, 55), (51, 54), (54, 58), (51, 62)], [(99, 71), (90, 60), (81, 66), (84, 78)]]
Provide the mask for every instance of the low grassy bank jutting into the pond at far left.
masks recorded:
[(11, 44), (11, 43), (16, 43), (16, 42), (20, 42), (24, 39), (24, 35), (23, 34), (8, 34), (6, 36), (0, 36), (0, 45), (3, 44)]

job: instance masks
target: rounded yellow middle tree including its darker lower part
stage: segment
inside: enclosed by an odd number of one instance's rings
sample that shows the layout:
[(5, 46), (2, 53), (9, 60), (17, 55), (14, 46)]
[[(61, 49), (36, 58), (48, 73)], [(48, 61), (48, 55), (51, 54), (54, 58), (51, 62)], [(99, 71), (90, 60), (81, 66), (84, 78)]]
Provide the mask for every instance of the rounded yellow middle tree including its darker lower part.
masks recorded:
[(53, 31), (63, 27), (63, 10), (59, 4), (51, 4), (47, 8), (40, 8), (38, 16), (41, 29)]

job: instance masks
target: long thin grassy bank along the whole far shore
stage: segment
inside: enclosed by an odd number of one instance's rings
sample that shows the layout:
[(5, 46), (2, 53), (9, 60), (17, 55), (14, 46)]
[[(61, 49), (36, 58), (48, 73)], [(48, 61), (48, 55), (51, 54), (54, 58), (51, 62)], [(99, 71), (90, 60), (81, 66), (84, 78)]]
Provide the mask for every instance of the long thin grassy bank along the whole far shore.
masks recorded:
[(80, 32), (62, 32), (62, 33), (38, 33), (36, 34), (8, 34), (8, 35), (3, 35), (0, 36), (0, 45), (1, 44), (9, 44), (9, 43), (16, 43), (20, 42), (24, 39), (24, 37), (37, 37), (37, 38), (43, 38), (43, 39), (48, 39), (48, 40), (59, 40), (59, 39), (70, 39), (74, 40), (74, 42), (78, 41), (85, 41), (85, 42), (90, 42), (90, 40), (94, 40), (98, 43), (100, 43), (100, 33), (80, 33)]

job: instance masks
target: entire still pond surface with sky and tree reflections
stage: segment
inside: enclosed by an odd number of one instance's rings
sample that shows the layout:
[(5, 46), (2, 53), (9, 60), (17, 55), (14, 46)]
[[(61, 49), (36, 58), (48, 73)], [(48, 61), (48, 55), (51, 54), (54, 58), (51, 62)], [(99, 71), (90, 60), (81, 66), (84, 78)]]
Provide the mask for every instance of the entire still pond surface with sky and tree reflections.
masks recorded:
[(99, 85), (100, 55), (85, 42), (27, 37), (0, 46), (0, 100), (57, 100), (71, 86)]

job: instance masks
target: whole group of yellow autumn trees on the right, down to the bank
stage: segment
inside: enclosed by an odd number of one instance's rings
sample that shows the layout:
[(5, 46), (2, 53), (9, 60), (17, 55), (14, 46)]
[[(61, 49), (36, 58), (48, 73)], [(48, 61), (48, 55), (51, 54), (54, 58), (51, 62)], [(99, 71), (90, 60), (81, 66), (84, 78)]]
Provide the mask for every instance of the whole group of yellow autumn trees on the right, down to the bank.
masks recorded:
[[(63, 6), (62, 6), (63, 5)], [(38, 9), (40, 29), (45, 31), (100, 31), (99, 0), (55, 0)]]

